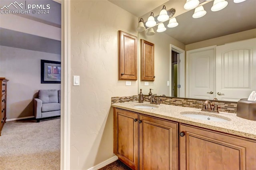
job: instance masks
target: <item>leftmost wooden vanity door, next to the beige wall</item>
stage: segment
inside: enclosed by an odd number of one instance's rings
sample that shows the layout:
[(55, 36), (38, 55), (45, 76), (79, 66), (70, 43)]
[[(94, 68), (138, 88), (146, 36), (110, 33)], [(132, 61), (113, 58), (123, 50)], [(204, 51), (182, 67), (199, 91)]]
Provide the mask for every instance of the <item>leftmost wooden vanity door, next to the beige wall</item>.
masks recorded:
[(114, 108), (114, 153), (124, 164), (138, 169), (138, 113)]

